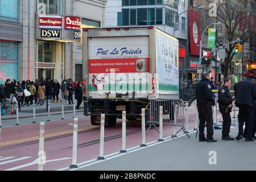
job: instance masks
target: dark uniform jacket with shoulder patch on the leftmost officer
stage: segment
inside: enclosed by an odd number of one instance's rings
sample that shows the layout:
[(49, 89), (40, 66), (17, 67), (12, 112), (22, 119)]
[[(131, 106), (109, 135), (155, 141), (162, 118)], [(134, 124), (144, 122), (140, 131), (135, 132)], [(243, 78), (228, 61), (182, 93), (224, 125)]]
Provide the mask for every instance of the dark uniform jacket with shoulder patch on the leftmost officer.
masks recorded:
[(196, 85), (196, 102), (197, 106), (207, 105), (211, 103), (214, 105), (215, 101), (212, 95), (212, 87), (209, 84), (209, 80), (203, 78)]

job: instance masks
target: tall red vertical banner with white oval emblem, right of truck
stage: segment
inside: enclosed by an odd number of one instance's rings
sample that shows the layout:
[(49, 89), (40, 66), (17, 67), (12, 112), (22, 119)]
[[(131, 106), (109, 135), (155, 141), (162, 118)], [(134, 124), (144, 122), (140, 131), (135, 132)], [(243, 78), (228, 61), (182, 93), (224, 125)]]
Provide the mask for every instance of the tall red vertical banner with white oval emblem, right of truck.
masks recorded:
[(189, 39), (191, 55), (199, 56), (201, 40), (200, 14), (199, 11), (189, 10)]

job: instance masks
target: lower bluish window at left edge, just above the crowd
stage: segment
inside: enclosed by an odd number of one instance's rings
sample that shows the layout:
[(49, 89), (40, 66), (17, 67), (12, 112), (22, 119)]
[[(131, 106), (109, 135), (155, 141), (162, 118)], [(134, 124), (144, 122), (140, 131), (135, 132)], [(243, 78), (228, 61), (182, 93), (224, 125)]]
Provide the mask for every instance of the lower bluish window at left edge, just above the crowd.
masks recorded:
[(0, 82), (18, 80), (18, 43), (0, 42)]

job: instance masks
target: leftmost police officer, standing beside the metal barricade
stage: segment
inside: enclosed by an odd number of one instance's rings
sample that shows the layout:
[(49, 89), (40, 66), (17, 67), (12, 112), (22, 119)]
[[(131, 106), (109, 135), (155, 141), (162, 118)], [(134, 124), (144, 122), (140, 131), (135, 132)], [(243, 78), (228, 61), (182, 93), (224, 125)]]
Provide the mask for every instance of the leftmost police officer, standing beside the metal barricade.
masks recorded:
[[(203, 73), (203, 79), (196, 85), (196, 101), (199, 113), (199, 142), (217, 142), (213, 139), (212, 106), (215, 105), (212, 89), (209, 84), (209, 73)], [(207, 123), (207, 138), (204, 135), (205, 122)]]

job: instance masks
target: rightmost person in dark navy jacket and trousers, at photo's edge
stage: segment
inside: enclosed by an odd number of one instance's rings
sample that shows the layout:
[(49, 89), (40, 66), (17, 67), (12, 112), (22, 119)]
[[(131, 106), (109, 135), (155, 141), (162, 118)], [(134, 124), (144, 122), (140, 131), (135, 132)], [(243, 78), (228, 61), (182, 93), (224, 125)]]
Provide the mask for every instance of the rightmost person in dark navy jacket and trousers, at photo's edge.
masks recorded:
[[(234, 95), (236, 96), (236, 106), (239, 107), (238, 123), (239, 132), (236, 140), (245, 137), (246, 141), (253, 141), (253, 106), (256, 98), (255, 77), (250, 75), (249, 78), (238, 82)], [(245, 131), (243, 133), (243, 123), (245, 122)]]

